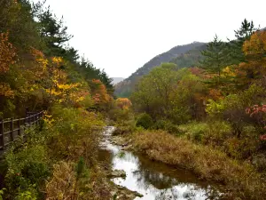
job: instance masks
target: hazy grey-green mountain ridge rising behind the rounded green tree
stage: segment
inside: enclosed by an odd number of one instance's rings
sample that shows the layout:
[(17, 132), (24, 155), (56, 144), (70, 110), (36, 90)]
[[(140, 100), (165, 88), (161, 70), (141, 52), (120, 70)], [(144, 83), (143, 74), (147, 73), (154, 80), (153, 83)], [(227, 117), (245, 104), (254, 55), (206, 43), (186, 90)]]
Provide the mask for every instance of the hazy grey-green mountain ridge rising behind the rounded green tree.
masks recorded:
[(115, 85), (115, 95), (129, 97), (134, 90), (137, 80), (147, 75), (154, 67), (160, 66), (163, 62), (174, 62), (180, 68), (192, 67), (196, 64), (200, 51), (205, 48), (205, 43), (193, 42), (192, 44), (178, 45), (168, 52), (163, 52), (145, 63), (142, 68), (138, 68), (135, 73)]

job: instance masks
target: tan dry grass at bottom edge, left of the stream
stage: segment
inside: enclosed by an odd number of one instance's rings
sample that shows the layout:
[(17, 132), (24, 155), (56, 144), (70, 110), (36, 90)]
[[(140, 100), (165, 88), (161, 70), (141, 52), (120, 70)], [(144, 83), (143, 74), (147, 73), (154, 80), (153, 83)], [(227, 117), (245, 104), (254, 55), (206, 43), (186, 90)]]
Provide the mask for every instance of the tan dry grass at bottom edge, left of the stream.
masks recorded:
[(90, 169), (89, 176), (77, 179), (74, 163), (54, 164), (51, 179), (46, 182), (47, 200), (102, 200), (110, 199), (111, 185), (99, 167)]

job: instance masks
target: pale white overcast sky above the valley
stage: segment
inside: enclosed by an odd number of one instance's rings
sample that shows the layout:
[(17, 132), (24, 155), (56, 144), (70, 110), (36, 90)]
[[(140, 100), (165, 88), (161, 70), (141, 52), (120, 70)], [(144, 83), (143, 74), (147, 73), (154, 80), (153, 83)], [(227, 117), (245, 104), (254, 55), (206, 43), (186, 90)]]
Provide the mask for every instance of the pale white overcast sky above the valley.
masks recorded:
[(241, 21), (266, 27), (265, 0), (47, 0), (70, 45), (112, 77), (128, 77), (179, 44), (234, 38)]

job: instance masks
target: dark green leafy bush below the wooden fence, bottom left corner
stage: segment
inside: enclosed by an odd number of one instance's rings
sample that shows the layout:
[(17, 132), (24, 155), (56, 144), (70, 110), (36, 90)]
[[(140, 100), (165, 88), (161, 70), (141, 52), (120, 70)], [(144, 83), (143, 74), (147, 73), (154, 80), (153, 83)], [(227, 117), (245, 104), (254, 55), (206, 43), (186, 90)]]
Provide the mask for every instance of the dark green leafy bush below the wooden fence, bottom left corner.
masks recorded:
[[(38, 190), (45, 179), (50, 175), (48, 155), (43, 145), (27, 144), (19, 152), (11, 149), (5, 156), (7, 173), (5, 175), (6, 187), (9, 194), (22, 197), (40, 196)], [(35, 186), (35, 187), (33, 187)]]

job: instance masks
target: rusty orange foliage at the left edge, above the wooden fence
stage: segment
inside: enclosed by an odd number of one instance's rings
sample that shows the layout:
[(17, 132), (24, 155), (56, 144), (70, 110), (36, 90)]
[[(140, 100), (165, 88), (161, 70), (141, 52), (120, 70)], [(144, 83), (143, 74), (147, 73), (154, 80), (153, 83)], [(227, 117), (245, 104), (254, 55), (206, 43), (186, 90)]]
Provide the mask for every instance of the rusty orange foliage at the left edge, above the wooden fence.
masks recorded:
[(9, 66), (15, 63), (16, 52), (11, 43), (8, 42), (8, 33), (0, 34), (0, 73), (9, 70)]

